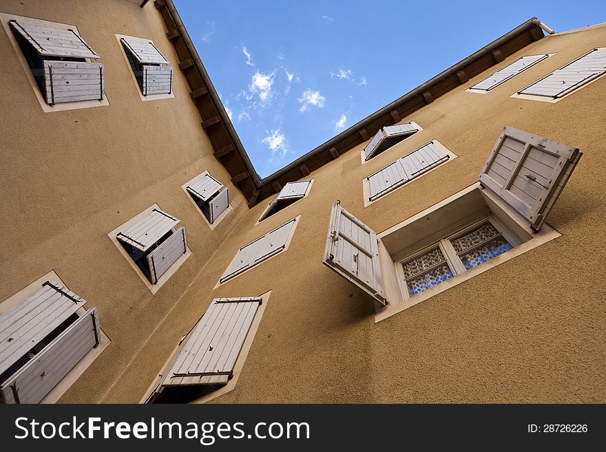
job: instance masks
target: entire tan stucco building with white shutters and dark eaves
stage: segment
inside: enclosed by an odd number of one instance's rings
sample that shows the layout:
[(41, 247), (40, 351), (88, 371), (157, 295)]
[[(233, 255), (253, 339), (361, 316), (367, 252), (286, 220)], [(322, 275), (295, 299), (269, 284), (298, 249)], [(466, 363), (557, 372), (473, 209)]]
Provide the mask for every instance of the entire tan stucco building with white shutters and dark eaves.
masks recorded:
[(606, 400), (606, 24), (530, 19), (260, 180), (171, 1), (24, 3), (5, 402)]

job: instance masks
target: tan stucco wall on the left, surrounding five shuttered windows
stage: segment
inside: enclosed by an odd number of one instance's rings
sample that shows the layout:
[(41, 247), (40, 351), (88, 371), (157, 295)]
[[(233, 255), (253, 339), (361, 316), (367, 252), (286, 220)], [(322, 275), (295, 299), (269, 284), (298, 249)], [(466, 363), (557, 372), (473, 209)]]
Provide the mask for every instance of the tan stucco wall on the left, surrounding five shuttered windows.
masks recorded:
[[(153, 3), (141, 10), (118, 0), (3, 0), (0, 12), (75, 24), (105, 64), (108, 106), (43, 113), (0, 28), (0, 300), (54, 269), (88, 308), (98, 308), (112, 343), (63, 398), (94, 402), (180, 299), (247, 203), (212, 155)], [(115, 33), (154, 41), (175, 69), (174, 98), (140, 100)], [(213, 230), (180, 188), (205, 170), (229, 187), (233, 205)], [(192, 254), (152, 296), (107, 233), (155, 202), (181, 219)]]

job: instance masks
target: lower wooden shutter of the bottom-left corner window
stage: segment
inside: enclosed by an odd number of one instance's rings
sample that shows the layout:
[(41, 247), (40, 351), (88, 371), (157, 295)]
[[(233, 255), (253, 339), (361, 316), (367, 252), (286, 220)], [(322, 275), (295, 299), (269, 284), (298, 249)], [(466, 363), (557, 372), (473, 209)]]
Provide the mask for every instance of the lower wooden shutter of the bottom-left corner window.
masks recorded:
[(100, 331), (96, 308), (87, 310), (0, 385), (4, 402), (40, 402), (93, 347), (98, 345)]

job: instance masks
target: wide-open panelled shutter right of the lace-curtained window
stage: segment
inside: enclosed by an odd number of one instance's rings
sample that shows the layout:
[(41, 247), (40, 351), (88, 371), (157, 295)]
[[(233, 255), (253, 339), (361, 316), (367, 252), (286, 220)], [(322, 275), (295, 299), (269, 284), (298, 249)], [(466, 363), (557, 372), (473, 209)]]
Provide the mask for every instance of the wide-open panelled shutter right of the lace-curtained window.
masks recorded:
[(583, 153), (505, 126), (479, 181), (539, 230)]

